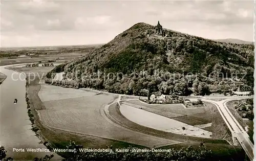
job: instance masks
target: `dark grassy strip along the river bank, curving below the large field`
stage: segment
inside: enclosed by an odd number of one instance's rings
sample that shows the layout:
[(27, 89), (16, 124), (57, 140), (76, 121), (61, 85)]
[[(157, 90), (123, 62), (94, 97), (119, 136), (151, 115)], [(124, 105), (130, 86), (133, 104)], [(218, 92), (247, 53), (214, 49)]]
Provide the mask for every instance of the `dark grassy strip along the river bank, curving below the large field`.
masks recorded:
[[(143, 146), (139, 146), (136, 144), (129, 144), (126, 142), (115, 141), (91, 135), (81, 135), (63, 130), (52, 129), (48, 128), (47, 126), (44, 126), (39, 121), (38, 113), (36, 112), (36, 110), (38, 109), (45, 109), (44, 104), (42, 104), (40, 98), (37, 95), (38, 91), (40, 90), (40, 84), (38, 84), (38, 81), (39, 79), (36, 78), (27, 87), (28, 96), (31, 100), (30, 106), (35, 116), (36, 126), (40, 129), (38, 131), (40, 134), (40, 138), (44, 141), (49, 142), (53, 148), (55, 147), (65, 149), (66, 146), (69, 144), (69, 141), (71, 140), (75, 141), (77, 144), (83, 145), (83, 147), (85, 148), (105, 148), (106, 145), (113, 145), (113, 148), (125, 148), (129, 146), (144, 148)], [(60, 155), (65, 156), (63, 155), (63, 153), (60, 153)]]

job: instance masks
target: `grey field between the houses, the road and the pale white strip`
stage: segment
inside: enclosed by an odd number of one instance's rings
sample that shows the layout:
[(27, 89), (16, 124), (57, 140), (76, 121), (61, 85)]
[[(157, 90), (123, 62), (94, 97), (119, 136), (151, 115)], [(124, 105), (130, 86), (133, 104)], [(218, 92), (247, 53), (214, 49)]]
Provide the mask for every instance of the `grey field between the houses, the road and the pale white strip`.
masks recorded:
[[(143, 106), (142, 109), (146, 111), (160, 114), (162, 116), (172, 118), (176, 121), (180, 121), (188, 125), (202, 125), (212, 123), (211, 127), (206, 128), (211, 129), (210, 131), (212, 132), (212, 138), (223, 139), (225, 137), (225, 140), (230, 142), (232, 141), (231, 135), (228, 133), (229, 129), (214, 104), (204, 102), (205, 106), (202, 107), (184, 108), (181, 104), (150, 105), (137, 100), (127, 102)], [(172, 115), (169, 113), (172, 113)], [(177, 116), (178, 114), (181, 114), (182, 116), (173, 117), (175, 114), (177, 114)]]

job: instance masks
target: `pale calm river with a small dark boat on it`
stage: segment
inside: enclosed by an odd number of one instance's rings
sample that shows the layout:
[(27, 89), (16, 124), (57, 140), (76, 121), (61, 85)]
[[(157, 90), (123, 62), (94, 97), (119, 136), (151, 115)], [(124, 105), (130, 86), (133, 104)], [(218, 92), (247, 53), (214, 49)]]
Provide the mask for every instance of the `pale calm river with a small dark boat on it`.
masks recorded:
[[(31, 122), (27, 113), (25, 100), (26, 76), (11, 70), (5, 69), (7, 66), (0, 66), (0, 72), (7, 78), (0, 85), (0, 145), (7, 150), (7, 157), (14, 160), (32, 160), (34, 157), (44, 157), (52, 152), (28, 152), (27, 148), (47, 149), (31, 130)], [(13, 103), (17, 99), (16, 104)], [(13, 148), (24, 149), (24, 151), (13, 151)], [(52, 160), (61, 160), (57, 154)]]

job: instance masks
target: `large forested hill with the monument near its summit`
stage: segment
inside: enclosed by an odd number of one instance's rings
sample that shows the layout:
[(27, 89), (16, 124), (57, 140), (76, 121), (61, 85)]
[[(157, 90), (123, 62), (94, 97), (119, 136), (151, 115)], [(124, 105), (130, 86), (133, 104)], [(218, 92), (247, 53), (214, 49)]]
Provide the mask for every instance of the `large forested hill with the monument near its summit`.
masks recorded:
[[(188, 95), (194, 87), (194, 93), (204, 95), (209, 89), (236, 88), (238, 79), (231, 78), (236, 72), (238, 78), (247, 73), (243, 85), (252, 89), (253, 50), (253, 44), (219, 42), (140, 22), (62, 68), (66, 77), (76, 74), (76, 87), (142, 96), (155, 91)], [(109, 73), (122, 73), (122, 79), (108, 79)]]

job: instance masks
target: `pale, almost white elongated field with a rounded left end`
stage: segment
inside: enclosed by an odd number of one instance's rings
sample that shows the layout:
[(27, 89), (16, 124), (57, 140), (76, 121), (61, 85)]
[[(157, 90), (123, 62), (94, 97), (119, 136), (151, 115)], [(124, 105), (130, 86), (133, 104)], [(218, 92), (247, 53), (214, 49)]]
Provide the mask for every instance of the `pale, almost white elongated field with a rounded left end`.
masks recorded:
[[(143, 126), (154, 128), (161, 131), (172, 132), (182, 135), (210, 138), (211, 132), (205, 131), (195, 126), (190, 126), (182, 122), (160, 116), (126, 104), (121, 105), (122, 115)], [(143, 117), (142, 117), (143, 116)], [(182, 129), (184, 127), (184, 129)]]

